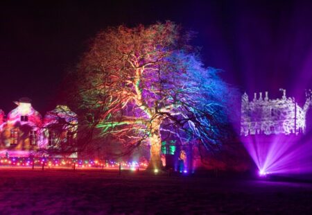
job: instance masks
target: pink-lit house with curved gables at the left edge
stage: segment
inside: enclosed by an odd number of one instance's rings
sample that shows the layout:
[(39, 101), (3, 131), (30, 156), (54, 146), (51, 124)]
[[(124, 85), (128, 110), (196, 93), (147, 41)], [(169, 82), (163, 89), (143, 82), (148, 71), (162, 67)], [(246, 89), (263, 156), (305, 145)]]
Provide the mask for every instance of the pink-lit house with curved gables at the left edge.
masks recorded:
[(61, 150), (61, 146), (72, 143), (76, 137), (76, 114), (68, 107), (58, 106), (42, 120), (41, 114), (32, 107), (29, 98), (21, 98), (15, 103), (17, 107), (6, 118), (0, 110), (1, 157), (44, 155), (42, 152), (45, 149), (54, 147)]

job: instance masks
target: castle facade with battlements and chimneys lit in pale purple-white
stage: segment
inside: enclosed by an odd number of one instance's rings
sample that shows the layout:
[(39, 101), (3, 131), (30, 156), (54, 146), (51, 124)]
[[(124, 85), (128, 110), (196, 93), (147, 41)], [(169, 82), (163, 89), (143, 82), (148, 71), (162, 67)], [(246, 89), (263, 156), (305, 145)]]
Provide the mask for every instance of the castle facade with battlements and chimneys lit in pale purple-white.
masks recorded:
[(270, 99), (268, 92), (259, 96), (254, 93), (252, 101), (245, 93), (241, 98), (241, 135), (299, 135), (306, 132), (306, 114), (311, 104), (311, 91), (306, 94), (303, 107), (295, 98), (287, 98), (286, 90), (281, 98)]

